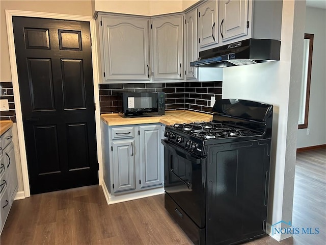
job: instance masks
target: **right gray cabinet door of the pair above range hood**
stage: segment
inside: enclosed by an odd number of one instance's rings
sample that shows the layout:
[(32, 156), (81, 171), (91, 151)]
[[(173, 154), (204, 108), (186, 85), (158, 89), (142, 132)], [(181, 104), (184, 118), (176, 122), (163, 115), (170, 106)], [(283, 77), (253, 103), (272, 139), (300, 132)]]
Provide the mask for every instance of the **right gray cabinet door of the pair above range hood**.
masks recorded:
[(248, 34), (248, 0), (220, 1), (222, 41)]

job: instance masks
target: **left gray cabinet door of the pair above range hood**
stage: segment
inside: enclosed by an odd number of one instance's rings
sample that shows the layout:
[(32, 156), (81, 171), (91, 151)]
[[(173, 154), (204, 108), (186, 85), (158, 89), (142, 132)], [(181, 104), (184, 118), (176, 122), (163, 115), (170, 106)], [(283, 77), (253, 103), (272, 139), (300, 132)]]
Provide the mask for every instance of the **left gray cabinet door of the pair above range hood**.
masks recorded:
[(204, 47), (216, 44), (218, 40), (218, 2), (207, 1), (198, 8), (198, 46), (199, 51)]

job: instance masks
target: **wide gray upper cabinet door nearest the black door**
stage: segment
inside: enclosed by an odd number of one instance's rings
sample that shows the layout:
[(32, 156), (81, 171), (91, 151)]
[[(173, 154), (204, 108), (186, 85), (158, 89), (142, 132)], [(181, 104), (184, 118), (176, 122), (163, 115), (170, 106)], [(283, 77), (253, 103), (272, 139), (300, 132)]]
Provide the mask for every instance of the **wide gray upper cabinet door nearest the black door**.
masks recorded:
[(149, 80), (149, 20), (102, 17), (105, 81)]

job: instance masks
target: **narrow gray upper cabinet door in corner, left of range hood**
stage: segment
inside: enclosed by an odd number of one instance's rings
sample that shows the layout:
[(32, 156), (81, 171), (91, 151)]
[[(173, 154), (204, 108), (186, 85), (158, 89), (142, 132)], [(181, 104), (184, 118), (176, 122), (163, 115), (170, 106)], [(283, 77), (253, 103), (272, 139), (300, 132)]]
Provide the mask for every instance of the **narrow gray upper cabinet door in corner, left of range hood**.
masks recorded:
[(184, 50), (185, 50), (185, 78), (197, 79), (198, 67), (190, 66), (190, 62), (197, 60), (197, 9), (185, 14), (184, 21)]

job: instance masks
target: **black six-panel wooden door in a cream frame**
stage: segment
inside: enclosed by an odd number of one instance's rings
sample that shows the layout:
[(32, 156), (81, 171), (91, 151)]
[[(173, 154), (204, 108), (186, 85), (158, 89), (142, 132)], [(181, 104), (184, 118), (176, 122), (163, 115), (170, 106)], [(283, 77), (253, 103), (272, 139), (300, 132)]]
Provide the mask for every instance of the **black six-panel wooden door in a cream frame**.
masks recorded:
[(13, 28), (31, 193), (98, 184), (89, 22)]

